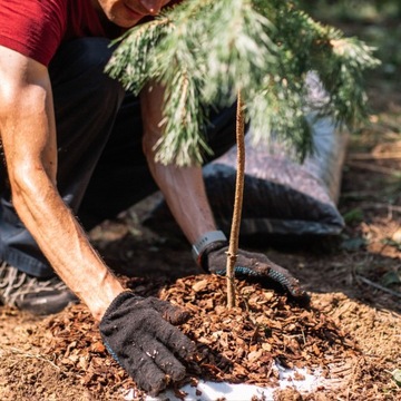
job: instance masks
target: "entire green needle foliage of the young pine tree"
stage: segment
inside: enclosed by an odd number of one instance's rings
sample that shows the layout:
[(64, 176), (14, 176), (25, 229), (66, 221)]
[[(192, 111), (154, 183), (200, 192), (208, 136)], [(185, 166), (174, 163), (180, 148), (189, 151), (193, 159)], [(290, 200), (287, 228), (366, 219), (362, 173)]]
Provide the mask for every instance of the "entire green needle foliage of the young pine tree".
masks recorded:
[(187, 0), (119, 39), (107, 71), (139, 94), (148, 81), (166, 88), (164, 136), (157, 159), (202, 164), (207, 110), (242, 92), (254, 140), (278, 138), (303, 159), (313, 150), (305, 77), (327, 91), (313, 105), (338, 124), (364, 118), (362, 74), (376, 65), (372, 49), (278, 0)]

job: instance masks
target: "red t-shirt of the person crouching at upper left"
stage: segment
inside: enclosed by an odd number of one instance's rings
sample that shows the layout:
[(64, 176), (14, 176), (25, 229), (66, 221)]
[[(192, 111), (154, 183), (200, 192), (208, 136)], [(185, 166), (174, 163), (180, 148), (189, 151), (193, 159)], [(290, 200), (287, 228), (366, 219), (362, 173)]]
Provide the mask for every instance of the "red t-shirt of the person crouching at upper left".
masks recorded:
[(62, 40), (106, 37), (90, 0), (0, 0), (0, 45), (48, 66)]

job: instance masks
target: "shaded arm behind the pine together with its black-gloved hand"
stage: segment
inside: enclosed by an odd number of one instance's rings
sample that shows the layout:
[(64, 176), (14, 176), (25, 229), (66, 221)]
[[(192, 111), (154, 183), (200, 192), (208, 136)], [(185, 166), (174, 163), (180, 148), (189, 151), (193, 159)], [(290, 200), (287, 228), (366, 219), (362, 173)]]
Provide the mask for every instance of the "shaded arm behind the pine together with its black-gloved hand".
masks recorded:
[[(159, 139), (164, 91), (160, 86), (148, 88), (141, 94), (143, 119), (145, 127), (144, 151), (156, 183), (166, 202), (184, 231), (189, 243), (194, 244), (205, 233), (216, 231), (216, 225), (206, 197), (200, 167), (178, 168), (155, 163), (154, 146)], [(204, 271), (216, 274), (226, 273), (227, 245), (221, 238), (212, 241), (202, 250), (197, 263)], [(278, 283), (287, 293), (300, 300), (307, 300), (300, 282), (291, 273), (271, 262), (262, 253), (238, 250), (235, 274), (243, 278)]]

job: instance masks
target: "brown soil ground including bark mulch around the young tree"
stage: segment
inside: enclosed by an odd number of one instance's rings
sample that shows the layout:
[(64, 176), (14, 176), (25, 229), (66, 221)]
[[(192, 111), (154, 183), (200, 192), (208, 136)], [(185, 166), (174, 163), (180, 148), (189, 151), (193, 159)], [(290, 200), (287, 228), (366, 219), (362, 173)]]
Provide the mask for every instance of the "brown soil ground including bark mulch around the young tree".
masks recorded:
[[(203, 274), (183, 237), (140, 224), (158, 195), (90, 233), (127, 286), (193, 312), (182, 330), (199, 355), (185, 382), (276, 387), (278, 361), (326, 380), (310, 393), (277, 388), (275, 400), (401, 400), (400, 94), (370, 88), (375, 114), (349, 147), (340, 237), (244, 244), (299, 277), (310, 306), (237, 281), (239, 304), (227, 311), (224, 278)], [(1, 400), (124, 400), (131, 389), (145, 398), (105, 351), (85, 305), (48, 317), (0, 307)], [(178, 385), (176, 393), (185, 399)]]

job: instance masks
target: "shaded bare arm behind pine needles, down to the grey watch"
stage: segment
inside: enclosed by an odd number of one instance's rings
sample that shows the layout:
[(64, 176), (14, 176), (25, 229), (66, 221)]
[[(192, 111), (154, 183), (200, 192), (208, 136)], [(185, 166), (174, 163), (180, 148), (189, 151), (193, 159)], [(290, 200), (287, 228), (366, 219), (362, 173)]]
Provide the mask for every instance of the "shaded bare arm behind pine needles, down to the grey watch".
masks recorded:
[(206, 196), (200, 167), (177, 167), (155, 162), (154, 146), (160, 138), (163, 127), (164, 89), (149, 85), (140, 95), (144, 121), (144, 151), (150, 172), (168, 204), (172, 214), (189, 243), (215, 231), (216, 224)]

